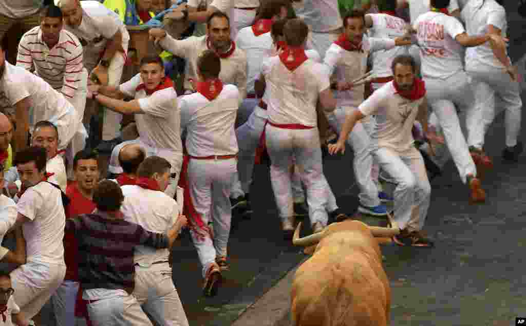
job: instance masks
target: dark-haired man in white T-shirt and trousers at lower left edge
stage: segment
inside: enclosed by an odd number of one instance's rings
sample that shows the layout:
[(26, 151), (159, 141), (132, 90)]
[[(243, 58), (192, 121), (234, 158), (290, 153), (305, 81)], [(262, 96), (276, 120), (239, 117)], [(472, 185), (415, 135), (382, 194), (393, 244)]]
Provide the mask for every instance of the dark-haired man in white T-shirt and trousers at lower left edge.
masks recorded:
[[(14, 297), (27, 318), (33, 318), (64, 280), (64, 222), (62, 193), (47, 182), (46, 150), (18, 151), (15, 165), (22, 181), (16, 220), (0, 226), (0, 234), (22, 226), (27, 263), (11, 272)], [(40, 324), (36, 321), (37, 324)]]

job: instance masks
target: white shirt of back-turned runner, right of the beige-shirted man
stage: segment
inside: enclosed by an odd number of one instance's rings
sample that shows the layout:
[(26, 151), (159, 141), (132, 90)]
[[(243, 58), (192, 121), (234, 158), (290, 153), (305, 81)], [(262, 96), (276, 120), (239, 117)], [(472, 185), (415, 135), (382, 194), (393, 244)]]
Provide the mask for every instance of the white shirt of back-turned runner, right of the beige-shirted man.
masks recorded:
[(261, 64), (274, 52), (270, 32), (256, 36), (252, 26), (241, 28), (237, 34), (236, 45), (247, 55), (247, 94), (254, 93), (254, 83), (261, 71)]

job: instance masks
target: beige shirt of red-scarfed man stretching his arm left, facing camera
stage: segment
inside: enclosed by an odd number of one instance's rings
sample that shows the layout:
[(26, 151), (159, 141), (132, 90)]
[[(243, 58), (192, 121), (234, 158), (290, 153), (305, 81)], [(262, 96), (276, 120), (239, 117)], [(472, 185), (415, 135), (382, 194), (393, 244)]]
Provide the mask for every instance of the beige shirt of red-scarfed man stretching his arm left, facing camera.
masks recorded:
[[(185, 89), (191, 89), (189, 79), (197, 79), (197, 58), (206, 49), (207, 36), (190, 36), (185, 39), (175, 40), (166, 35), (160, 42), (160, 46), (175, 56), (185, 58)], [(239, 89), (239, 103), (247, 95), (247, 55), (245, 51), (236, 47), (234, 53), (227, 58), (221, 58), (221, 72), (219, 79), (224, 84), (234, 84)]]

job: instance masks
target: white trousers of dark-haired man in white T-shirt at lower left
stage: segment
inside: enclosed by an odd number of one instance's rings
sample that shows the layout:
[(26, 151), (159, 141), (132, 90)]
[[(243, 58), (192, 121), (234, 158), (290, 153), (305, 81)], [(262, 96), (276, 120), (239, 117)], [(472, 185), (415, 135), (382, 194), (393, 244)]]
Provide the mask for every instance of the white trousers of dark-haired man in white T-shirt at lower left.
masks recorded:
[(58, 289), (66, 265), (28, 262), (11, 272), (13, 297), (27, 319), (32, 319)]

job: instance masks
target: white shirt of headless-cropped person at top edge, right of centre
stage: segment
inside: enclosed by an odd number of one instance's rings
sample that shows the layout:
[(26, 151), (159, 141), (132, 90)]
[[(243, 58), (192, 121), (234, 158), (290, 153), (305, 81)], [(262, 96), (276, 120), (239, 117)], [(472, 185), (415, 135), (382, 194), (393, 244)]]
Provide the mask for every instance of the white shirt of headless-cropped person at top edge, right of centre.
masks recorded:
[(338, 0), (304, 0), (296, 13), (304, 19), (312, 32), (332, 32), (343, 26)]

